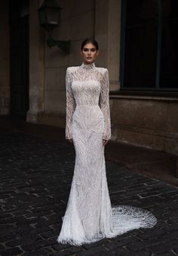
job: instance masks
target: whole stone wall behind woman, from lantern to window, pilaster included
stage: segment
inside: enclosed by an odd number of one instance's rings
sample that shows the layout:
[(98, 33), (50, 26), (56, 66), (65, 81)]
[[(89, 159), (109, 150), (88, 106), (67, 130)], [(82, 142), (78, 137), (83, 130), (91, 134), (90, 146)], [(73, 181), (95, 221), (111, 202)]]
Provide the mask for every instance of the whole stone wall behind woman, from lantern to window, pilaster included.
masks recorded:
[[(71, 54), (60, 48), (45, 48), (45, 88), (43, 122), (65, 125), (66, 87), (68, 66), (78, 66), (81, 42), (95, 37), (100, 45), (96, 65), (109, 69), (110, 89), (119, 88), (121, 1), (60, 1), (60, 26), (52, 32), (53, 38), (71, 41)], [(48, 34), (46, 34), (46, 39)]]

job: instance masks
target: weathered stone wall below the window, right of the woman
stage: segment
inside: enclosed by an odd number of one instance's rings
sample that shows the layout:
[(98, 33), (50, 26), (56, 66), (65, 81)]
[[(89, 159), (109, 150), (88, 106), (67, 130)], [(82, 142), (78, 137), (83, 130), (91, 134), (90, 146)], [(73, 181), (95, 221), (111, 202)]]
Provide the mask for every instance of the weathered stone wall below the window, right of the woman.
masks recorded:
[(112, 96), (112, 140), (178, 155), (178, 100)]

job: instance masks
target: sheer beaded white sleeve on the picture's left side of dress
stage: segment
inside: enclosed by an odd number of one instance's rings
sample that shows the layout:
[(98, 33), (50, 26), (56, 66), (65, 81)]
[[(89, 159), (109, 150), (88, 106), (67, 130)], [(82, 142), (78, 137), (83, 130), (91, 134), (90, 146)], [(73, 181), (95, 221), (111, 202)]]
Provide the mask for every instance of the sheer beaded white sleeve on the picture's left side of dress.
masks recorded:
[(72, 116), (75, 110), (75, 98), (71, 88), (71, 74), (66, 70), (66, 139), (72, 139)]

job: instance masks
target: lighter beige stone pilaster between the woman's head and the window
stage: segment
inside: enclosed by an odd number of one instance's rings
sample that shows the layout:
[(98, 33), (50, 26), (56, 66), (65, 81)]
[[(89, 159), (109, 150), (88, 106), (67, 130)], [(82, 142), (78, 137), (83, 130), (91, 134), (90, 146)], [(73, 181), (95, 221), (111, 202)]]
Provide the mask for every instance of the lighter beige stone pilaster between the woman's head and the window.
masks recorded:
[(97, 66), (109, 69), (110, 91), (120, 88), (121, 0), (96, 1), (95, 37), (100, 45)]

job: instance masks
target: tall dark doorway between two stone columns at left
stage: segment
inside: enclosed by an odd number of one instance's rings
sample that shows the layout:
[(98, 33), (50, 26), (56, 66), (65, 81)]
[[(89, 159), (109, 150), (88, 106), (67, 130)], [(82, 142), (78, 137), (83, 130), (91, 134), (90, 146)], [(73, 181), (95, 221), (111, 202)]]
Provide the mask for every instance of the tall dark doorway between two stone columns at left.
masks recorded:
[(29, 109), (29, 0), (10, 0), (11, 116)]

